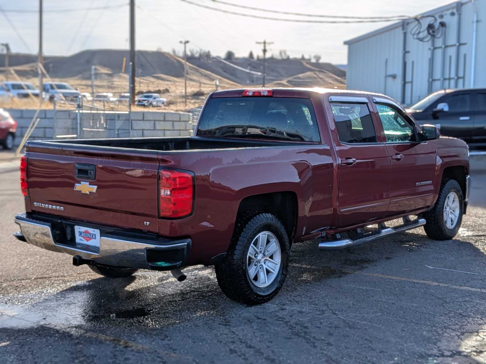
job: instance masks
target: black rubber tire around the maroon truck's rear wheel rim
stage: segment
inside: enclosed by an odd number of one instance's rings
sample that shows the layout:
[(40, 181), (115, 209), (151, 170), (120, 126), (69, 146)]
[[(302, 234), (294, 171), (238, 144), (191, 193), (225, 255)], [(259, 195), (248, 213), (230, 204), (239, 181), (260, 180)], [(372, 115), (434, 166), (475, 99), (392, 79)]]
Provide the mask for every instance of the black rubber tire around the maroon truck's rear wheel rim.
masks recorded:
[[(273, 233), (280, 247), (280, 266), (275, 279), (266, 287), (257, 287), (247, 272), (247, 253), (260, 232)], [(282, 287), (289, 264), (289, 237), (281, 221), (272, 214), (249, 213), (238, 216), (231, 246), (225, 258), (215, 267), (216, 278), (223, 293), (234, 301), (249, 305), (267, 302)]]

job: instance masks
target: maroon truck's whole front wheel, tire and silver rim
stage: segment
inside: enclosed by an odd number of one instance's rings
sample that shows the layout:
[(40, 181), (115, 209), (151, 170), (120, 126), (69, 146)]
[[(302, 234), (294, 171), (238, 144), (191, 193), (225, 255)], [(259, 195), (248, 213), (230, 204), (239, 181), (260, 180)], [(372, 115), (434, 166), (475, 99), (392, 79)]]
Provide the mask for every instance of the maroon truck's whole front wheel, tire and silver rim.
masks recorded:
[(452, 239), (461, 227), (464, 211), (462, 189), (455, 180), (444, 180), (432, 210), (424, 214), (427, 236), (434, 240)]

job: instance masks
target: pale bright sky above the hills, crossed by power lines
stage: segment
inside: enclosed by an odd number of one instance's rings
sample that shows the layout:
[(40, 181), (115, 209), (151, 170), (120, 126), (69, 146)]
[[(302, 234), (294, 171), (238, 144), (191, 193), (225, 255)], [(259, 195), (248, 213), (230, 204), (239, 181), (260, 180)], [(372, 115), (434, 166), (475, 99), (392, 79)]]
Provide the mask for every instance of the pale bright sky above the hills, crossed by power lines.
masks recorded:
[[(238, 9), (211, 0), (192, 0), (212, 7), (270, 17), (273, 15)], [(345, 16), (413, 16), (450, 3), (444, 0), (226, 0), (272, 10)], [(44, 0), (44, 54), (68, 55), (85, 49), (127, 49), (129, 47), (128, 0)], [(49, 10), (116, 6), (105, 10), (55, 13)], [(224, 55), (233, 50), (246, 56), (261, 53), (256, 41), (273, 41), (269, 52), (286, 50), (291, 57), (320, 54), (322, 62), (347, 63), (343, 41), (390, 24), (300, 24), (253, 19), (202, 9), (180, 0), (136, 0), (136, 47), (140, 50), (182, 49), (179, 40), (191, 41), (189, 49), (210, 50)], [(37, 10), (37, 0), (0, 0), (3, 10)], [(7, 12), (25, 46), (5, 14), (0, 12), (0, 43), (8, 42), (13, 52), (38, 50), (38, 14)], [(302, 17), (295, 17), (302, 18)], [(315, 19), (315, 18), (314, 18)], [(318, 19), (318, 18), (317, 18)]]

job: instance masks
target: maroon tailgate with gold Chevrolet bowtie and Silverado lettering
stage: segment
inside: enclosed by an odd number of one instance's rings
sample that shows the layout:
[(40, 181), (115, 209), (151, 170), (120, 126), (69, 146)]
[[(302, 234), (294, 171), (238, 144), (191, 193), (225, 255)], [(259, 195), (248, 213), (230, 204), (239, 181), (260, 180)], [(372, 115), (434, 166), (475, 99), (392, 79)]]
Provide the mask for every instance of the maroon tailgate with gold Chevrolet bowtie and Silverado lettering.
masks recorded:
[[(156, 152), (137, 155), (136, 151), (87, 152), (76, 148), (27, 148), (31, 209), (157, 232)], [(94, 176), (88, 177), (91, 169)]]

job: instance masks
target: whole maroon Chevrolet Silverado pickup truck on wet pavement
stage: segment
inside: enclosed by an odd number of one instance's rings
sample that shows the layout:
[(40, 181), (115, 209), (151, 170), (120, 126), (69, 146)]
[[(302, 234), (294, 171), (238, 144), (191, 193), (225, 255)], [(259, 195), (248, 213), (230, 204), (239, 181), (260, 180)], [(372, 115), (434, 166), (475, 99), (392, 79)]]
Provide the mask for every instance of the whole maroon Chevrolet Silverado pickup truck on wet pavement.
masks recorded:
[(226, 296), (259, 304), (297, 242), (341, 249), (420, 226), (453, 238), (468, 154), (384, 95), (218, 91), (191, 137), (28, 142), (14, 235), (110, 278), (142, 268), (182, 281), (184, 267), (215, 265)]

